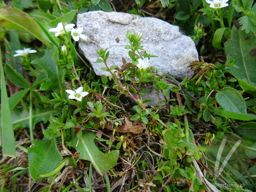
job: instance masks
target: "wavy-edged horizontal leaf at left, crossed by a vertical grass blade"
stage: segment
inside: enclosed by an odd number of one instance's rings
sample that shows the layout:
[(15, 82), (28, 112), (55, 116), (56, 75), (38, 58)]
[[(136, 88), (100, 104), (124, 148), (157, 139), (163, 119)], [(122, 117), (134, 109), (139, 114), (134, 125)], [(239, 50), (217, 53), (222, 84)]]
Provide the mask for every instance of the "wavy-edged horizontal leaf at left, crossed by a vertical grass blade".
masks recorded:
[[(56, 116), (61, 113), (61, 109), (54, 109), (52, 107), (48, 108), (35, 108), (33, 109), (33, 124), (36, 124), (40, 121), (47, 122), (50, 116)], [(26, 128), (29, 127), (29, 110), (27, 108), (23, 108), (20, 110), (18, 108), (12, 109), (12, 125), (13, 128)]]

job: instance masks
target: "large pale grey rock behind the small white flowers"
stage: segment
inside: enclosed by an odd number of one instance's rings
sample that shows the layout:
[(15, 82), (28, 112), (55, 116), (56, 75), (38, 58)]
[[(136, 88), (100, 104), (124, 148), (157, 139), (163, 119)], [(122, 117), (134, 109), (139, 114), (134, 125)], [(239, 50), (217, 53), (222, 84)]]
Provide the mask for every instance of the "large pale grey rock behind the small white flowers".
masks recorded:
[(95, 50), (108, 48), (108, 67), (122, 66), (122, 57), (126, 62), (131, 61), (129, 50), (124, 49), (129, 43), (127, 29), (133, 34), (143, 33), (141, 45), (148, 53), (158, 56), (150, 58), (150, 65), (157, 68), (159, 74), (164, 72), (182, 80), (192, 75), (188, 72), (189, 63), (198, 60), (193, 40), (182, 35), (178, 26), (157, 18), (119, 12), (86, 12), (77, 15), (77, 27), (83, 27), (83, 34), (87, 36), (87, 40), (79, 41), (79, 48), (99, 76), (110, 74), (100, 69), (105, 67), (103, 63), (95, 63), (100, 58)]

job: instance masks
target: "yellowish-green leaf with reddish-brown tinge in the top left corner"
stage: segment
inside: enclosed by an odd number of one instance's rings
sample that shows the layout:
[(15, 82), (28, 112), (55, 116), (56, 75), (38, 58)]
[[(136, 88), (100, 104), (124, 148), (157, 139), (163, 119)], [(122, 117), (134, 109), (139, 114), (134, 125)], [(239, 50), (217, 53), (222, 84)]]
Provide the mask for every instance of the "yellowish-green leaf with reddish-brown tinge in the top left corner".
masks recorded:
[(27, 13), (16, 8), (0, 9), (0, 24), (8, 29), (17, 29), (32, 34), (38, 40), (49, 46), (43, 38), (41, 29), (36, 21), (28, 16)]

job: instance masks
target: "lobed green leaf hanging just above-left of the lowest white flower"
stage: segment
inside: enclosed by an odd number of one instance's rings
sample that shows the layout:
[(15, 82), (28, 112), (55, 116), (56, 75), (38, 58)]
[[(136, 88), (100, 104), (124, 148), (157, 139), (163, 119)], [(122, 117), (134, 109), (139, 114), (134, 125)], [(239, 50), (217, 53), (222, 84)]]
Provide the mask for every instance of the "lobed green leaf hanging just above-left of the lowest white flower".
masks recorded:
[(40, 65), (48, 75), (48, 79), (44, 81), (40, 90), (51, 89), (54, 92), (59, 92), (64, 88), (61, 79), (64, 75), (65, 69), (61, 69), (59, 64), (55, 62), (53, 52), (52, 48), (48, 47), (44, 57), (33, 60), (31, 63)]

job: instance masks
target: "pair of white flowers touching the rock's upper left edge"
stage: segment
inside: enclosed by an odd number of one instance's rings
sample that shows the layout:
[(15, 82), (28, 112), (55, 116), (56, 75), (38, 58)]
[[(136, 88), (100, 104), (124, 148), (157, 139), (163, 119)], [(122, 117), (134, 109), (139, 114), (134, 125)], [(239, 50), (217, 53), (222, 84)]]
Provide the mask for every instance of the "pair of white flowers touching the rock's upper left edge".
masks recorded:
[[(83, 33), (83, 28), (82, 27), (73, 28), (74, 26), (75, 26), (75, 24), (65, 25), (66, 31), (67, 32), (71, 31), (71, 36), (74, 39), (74, 41), (78, 41), (79, 38), (84, 39), (84, 40), (87, 39), (86, 36), (84, 36), (82, 34)], [(62, 23), (58, 23), (56, 28), (50, 28), (49, 31), (54, 32), (56, 37), (65, 33)]]

